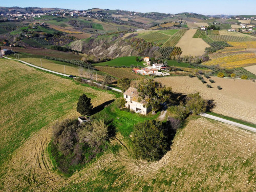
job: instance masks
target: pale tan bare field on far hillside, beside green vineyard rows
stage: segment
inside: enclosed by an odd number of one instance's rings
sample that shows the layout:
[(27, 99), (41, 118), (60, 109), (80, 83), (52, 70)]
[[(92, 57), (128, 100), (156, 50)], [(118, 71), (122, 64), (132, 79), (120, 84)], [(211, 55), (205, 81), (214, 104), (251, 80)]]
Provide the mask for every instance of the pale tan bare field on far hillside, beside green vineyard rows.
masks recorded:
[(181, 48), (181, 55), (199, 56), (204, 53), (206, 47), (209, 47), (203, 39), (193, 38), (196, 31), (196, 29), (189, 29), (176, 45)]

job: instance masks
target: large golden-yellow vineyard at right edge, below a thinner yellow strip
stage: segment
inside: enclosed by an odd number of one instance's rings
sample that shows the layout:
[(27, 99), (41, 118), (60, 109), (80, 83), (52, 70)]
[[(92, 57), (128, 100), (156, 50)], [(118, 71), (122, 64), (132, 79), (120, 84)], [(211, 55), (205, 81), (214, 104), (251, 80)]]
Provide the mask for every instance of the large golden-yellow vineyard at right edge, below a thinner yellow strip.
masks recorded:
[(222, 58), (212, 59), (210, 61), (204, 62), (205, 66), (216, 66), (219, 65), (223, 68), (234, 68), (234, 67), (244, 67), (251, 63), (256, 63), (254, 53), (245, 53), (239, 55), (232, 55)]

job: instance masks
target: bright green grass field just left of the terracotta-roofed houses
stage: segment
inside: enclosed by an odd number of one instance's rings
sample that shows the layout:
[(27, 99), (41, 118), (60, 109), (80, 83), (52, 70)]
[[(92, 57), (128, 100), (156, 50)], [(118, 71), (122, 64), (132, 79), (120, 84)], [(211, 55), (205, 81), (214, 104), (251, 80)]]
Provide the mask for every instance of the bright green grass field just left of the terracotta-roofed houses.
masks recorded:
[[(139, 57), (140, 58), (140, 57)], [(134, 66), (143, 66), (143, 62), (137, 62), (136, 61), (136, 56), (130, 56), (130, 57), (118, 57), (110, 61), (106, 62), (99, 62), (93, 64), (94, 66), (126, 66), (126, 67), (131, 67), (131, 65)]]

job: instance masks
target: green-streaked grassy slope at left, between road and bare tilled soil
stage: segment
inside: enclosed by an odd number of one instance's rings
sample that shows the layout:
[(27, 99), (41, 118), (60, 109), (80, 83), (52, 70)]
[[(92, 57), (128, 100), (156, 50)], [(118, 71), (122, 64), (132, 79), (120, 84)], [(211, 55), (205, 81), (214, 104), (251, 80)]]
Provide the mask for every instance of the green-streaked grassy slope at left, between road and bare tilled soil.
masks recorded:
[(77, 85), (18, 62), (2, 59), (0, 68), (0, 106), (5, 109), (0, 112), (3, 133), (0, 165), (33, 133), (71, 111), (74, 113), (82, 93), (91, 97), (94, 105), (100, 103), (99, 95), (113, 98), (107, 92)]

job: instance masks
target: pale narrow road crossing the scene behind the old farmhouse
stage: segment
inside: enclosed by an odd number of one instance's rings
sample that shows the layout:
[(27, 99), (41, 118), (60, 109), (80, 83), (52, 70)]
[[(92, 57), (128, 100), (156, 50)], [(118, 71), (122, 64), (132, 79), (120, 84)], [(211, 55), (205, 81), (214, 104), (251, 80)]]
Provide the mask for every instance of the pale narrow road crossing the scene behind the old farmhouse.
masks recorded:
[[(62, 76), (65, 76), (65, 77), (69, 77), (69, 75), (67, 75), (67, 74), (63, 74), (63, 73), (59, 73), (59, 72), (52, 71), (52, 70), (49, 70), (49, 69), (41, 68), (41, 67), (32, 65), (31, 63), (28, 63), (26, 61), (23, 61), (23, 60), (12, 59), (12, 58), (8, 58), (8, 57), (5, 57), (5, 56), (3, 56), (3, 57), (6, 58), (6, 59), (11, 59), (11, 60), (16, 60), (16, 61), (23, 62), (26, 65), (29, 65), (31, 67), (34, 67), (34, 68), (37, 68), (37, 69), (40, 69), (40, 70), (44, 70), (44, 71), (48, 71), (48, 72), (55, 73), (55, 74), (58, 74), (58, 75), (62, 75)], [(94, 82), (94, 81), (91, 81), (91, 80), (88, 80), (88, 79), (83, 79), (83, 80), (87, 81), (87, 82), (93, 82), (97, 86), (102, 86), (102, 84), (100, 84), (98, 82)], [(116, 89), (116, 88), (108, 87), (108, 89), (111, 89), (113, 91), (117, 91), (117, 92), (122, 93), (121, 90)], [(220, 117), (216, 117), (216, 116), (213, 116), (213, 115), (205, 114), (205, 113), (200, 114), (200, 116), (206, 117), (206, 118), (209, 118), (209, 119), (214, 119), (216, 121), (221, 121), (223, 123), (227, 123), (227, 124), (230, 124), (230, 125), (238, 126), (238, 127), (242, 128), (242, 129), (245, 129), (245, 130), (248, 130), (248, 131), (256, 133), (256, 129), (255, 128), (247, 126), (247, 125), (244, 125), (244, 124), (240, 124), (240, 123), (237, 123), (237, 122), (229, 121), (229, 120), (226, 120), (226, 119), (223, 119), (223, 118), (220, 118)]]

